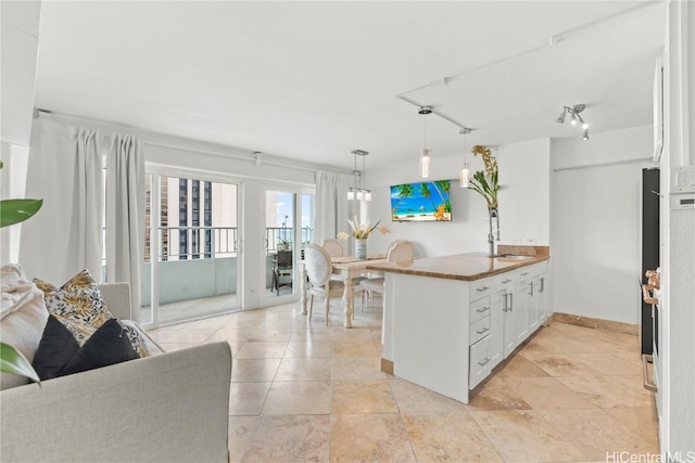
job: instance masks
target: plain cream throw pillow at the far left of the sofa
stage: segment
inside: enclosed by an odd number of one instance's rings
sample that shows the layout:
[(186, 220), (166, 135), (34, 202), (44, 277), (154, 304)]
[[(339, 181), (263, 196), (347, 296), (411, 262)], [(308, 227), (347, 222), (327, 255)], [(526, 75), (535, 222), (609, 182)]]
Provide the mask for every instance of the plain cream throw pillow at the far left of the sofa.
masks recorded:
[[(1, 279), (0, 340), (11, 345), (31, 361), (48, 320), (43, 293), (17, 263), (3, 266)], [(28, 382), (24, 376), (0, 373), (0, 390), (22, 386)]]

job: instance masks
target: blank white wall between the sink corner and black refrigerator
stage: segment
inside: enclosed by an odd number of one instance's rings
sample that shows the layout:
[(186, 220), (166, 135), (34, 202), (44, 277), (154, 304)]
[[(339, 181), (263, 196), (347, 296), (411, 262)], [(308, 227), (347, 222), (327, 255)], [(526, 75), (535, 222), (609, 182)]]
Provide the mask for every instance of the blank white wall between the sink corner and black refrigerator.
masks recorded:
[(642, 168), (650, 126), (551, 142), (551, 254), (556, 312), (640, 323)]

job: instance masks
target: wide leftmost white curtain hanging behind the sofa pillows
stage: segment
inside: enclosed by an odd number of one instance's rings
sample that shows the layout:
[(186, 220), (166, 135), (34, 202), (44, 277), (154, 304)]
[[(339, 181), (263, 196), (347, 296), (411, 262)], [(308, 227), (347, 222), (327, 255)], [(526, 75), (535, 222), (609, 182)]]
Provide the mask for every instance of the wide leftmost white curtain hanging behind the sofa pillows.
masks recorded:
[(34, 120), (26, 197), (42, 198), (22, 224), (20, 263), (62, 285), (83, 269), (101, 281), (103, 166), (96, 130), (40, 113)]

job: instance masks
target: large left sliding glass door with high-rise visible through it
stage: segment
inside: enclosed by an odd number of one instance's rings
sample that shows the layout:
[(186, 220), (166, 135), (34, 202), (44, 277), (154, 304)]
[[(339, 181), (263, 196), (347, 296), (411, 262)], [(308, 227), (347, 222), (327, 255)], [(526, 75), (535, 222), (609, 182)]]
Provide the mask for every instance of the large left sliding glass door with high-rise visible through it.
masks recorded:
[(157, 170), (147, 182), (142, 322), (161, 325), (237, 309), (238, 185)]

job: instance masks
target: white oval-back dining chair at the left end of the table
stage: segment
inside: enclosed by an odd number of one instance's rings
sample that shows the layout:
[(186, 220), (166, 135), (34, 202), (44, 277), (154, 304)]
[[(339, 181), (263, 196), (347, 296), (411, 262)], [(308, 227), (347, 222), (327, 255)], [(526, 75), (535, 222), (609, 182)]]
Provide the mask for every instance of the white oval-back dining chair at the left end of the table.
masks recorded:
[[(307, 244), (304, 248), (304, 261), (306, 266), (306, 275), (308, 278), (308, 320), (312, 320), (314, 309), (314, 296), (324, 297), (326, 305), (326, 324), (328, 325), (328, 316), (330, 313), (330, 298), (342, 296), (345, 291), (345, 282), (341, 280), (331, 280), (333, 265), (330, 256), (321, 246), (316, 244)], [(355, 291), (358, 282), (353, 282), (350, 291)]]

